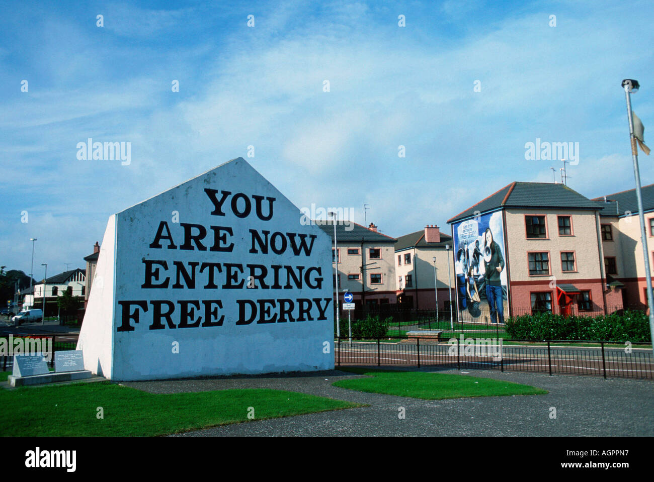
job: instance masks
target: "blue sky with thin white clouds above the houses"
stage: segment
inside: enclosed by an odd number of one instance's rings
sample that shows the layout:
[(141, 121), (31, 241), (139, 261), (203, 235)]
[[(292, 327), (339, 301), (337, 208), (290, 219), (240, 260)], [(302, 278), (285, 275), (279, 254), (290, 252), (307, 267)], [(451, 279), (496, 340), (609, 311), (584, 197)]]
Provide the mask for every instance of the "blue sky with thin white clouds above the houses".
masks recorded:
[[(112, 213), (239, 156), (299, 208), (354, 208), (363, 223), (370, 204), (390, 236), (449, 233), (449, 217), (504, 185), (551, 182), (560, 161), (525, 160), (536, 138), (579, 142), (568, 185), (583, 195), (630, 189), (620, 82), (640, 81), (632, 103), (654, 144), (652, 13), (648, 1), (5, 2), (0, 264), (29, 272), (35, 237), (35, 278), (41, 263), (84, 267)], [(89, 137), (131, 142), (131, 163), (78, 160)], [(643, 184), (652, 160), (640, 156)]]

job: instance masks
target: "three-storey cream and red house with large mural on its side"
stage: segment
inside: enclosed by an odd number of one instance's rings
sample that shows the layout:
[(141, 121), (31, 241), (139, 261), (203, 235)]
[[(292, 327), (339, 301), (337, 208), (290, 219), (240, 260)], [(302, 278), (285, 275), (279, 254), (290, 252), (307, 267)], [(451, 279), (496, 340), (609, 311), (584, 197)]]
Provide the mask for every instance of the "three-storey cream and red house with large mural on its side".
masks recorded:
[[(503, 265), (497, 267), (500, 282), (486, 283), (489, 272), (483, 270), (474, 276), (466, 276), (466, 270), (457, 272), (459, 307), (468, 307), (473, 317), (479, 317), (477, 306), (470, 308), (473, 300), (467, 287), (474, 284), (482, 315), (490, 310), (489, 297), (498, 311), (497, 299), (502, 297), (500, 323), (504, 315), (606, 313), (622, 308), (620, 287), (604, 272), (603, 208), (564, 184), (513, 182), (449, 219), (459, 238), (466, 238), (470, 229), (479, 235), (481, 259), (485, 250), (490, 259), (487, 232), (491, 242), (502, 240), (494, 248), (502, 253)], [(473, 266), (471, 259), (464, 254), (456, 261)]]

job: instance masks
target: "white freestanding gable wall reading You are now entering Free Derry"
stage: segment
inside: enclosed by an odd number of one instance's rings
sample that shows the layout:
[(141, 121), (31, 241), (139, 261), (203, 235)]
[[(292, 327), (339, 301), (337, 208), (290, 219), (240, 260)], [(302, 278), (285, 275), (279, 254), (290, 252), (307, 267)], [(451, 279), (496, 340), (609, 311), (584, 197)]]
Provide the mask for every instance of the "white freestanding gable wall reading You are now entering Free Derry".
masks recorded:
[(329, 236), (233, 159), (109, 218), (85, 368), (124, 380), (333, 368), (331, 262)]

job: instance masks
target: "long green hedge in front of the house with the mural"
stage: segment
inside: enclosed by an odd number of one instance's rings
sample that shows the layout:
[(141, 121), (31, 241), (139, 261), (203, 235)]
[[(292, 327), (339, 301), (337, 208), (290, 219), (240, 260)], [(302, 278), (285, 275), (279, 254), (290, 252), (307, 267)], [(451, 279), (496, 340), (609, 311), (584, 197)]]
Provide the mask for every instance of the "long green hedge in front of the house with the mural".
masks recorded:
[(507, 320), (506, 332), (513, 340), (650, 342), (649, 317), (632, 310), (595, 317), (549, 312), (522, 315)]

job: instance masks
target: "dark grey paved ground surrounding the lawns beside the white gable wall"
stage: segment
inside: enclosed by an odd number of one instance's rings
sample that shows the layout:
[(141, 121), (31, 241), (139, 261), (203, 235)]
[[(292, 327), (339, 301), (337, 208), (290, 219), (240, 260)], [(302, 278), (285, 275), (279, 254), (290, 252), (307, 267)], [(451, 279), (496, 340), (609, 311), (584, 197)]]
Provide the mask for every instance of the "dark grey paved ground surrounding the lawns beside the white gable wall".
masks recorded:
[[(434, 371), (433, 368), (422, 371)], [(582, 376), (442, 370), (533, 385), (545, 395), (419, 400), (333, 387), (357, 377), (332, 370), (301, 375), (125, 383), (152, 393), (269, 388), (368, 404), (218, 426), (176, 436), (653, 436), (654, 382)], [(256, 402), (254, 404), (256, 407)], [(405, 408), (406, 418), (398, 417)], [(555, 407), (557, 418), (549, 417)], [(256, 409), (255, 409), (256, 410)]]

